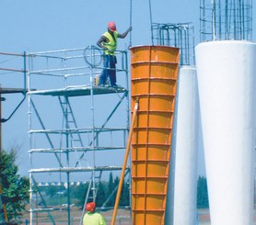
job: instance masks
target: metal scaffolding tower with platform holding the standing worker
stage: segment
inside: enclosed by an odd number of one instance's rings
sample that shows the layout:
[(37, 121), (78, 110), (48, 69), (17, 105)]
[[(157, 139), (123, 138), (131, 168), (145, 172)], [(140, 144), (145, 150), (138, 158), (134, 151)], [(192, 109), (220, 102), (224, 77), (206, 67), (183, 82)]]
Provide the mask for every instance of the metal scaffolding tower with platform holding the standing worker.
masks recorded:
[(103, 172), (122, 169), (130, 124), (127, 51), (116, 52), (123, 86), (118, 88), (97, 85), (102, 55), (95, 46), (27, 53), (30, 224), (39, 212), (47, 212), (55, 224), (51, 211), (56, 208), (47, 206), (41, 195), (42, 206), (36, 203), (43, 179), (65, 181), (66, 223), (71, 224), (71, 182), (87, 181), (86, 204), (95, 201)]

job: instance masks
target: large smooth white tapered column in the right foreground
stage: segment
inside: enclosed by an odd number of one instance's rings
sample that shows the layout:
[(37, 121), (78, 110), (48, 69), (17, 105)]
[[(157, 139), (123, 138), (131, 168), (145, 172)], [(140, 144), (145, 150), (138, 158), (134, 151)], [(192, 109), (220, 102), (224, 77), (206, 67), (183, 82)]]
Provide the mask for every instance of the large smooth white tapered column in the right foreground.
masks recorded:
[(251, 225), (256, 44), (223, 40), (195, 48), (212, 225)]

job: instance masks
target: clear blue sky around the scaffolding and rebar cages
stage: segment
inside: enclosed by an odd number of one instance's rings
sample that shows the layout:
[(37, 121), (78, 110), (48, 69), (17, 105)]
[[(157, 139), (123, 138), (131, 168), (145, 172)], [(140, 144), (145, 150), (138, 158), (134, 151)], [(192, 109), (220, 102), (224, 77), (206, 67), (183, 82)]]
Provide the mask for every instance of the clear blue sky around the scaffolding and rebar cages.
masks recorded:
[[(153, 22), (192, 22), (198, 43), (199, 0), (151, 0), (151, 4)], [(133, 0), (132, 12), (133, 46), (151, 44), (148, 1)], [(109, 21), (115, 21), (120, 32), (125, 31), (130, 25), (130, 0), (2, 0), (0, 51), (21, 53), (87, 47), (96, 44)], [(255, 40), (255, 21), (253, 28)], [(119, 41), (119, 49), (128, 44), (129, 36)], [(0, 76), (0, 83), (5, 87), (22, 87), (12, 75)], [(4, 118), (21, 99), (21, 96), (6, 97)], [(2, 129), (3, 147), (20, 147), (17, 163), (21, 174), (27, 174), (29, 169), (27, 112), (25, 102)]]

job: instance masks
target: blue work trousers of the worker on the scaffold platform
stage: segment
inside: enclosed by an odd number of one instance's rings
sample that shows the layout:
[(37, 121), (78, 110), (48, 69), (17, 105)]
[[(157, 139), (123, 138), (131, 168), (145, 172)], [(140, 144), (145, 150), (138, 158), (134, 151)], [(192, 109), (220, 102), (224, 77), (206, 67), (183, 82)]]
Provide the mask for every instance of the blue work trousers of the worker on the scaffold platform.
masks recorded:
[(105, 84), (108, 77), (111, 80), (111, 86), (116, 85), (116, 56), (115, 55), (105, 55), (104, 56), (104, 69), (102, 70), (99, 77), (99, 85)]

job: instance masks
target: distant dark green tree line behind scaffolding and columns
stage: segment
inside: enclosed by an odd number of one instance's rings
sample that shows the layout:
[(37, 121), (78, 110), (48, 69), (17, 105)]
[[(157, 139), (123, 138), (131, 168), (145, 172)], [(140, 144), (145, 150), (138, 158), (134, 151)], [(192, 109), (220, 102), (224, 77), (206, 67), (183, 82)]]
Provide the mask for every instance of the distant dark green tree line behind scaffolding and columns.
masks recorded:
[[(117, 189), (119, 186), (120, 178), (115, 177), (113, 179), (112, 173), (109, 177), (109, 182), (99, 182), (96, 203), (100, 208), (107, 201), (106, 207), (113, 207)], [(88, 183), (80, 184), (78, 186), (70, 186), (70, 199), (71, 204), (76, 204), (78, 207), (83, 207), (85, 199), (87, 197)], [(64, 186), (44, 186), (40, 187), (41, 193), (46, 198), (47, 205), (62, 205), (67, 203), (67, 190)], [(92, 196), (92, 192), (90, 192)], [(130, 204), (130, 184), (127, 181), (123, 181), (122, 184), (122, 195), (120, 199), (120, 206), (129, 206)], [(197, 182), (197, 208), (208, 208), (208, 191), (206, 178), (199, 176)]]

